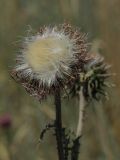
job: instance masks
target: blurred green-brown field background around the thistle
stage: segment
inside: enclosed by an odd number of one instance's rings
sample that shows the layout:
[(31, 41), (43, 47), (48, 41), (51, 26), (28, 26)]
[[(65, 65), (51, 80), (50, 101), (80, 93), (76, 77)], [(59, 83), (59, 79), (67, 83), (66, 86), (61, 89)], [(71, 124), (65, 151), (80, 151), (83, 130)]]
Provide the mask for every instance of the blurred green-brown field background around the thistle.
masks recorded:
[[(120, 1), (0, 0), (0, 160), (56, 160), (53, 132), (39, 142), (40, 131), (54, 119), (54, 101), (39, 103), (10, 77), (28, 30), (68, 21), (89, 34), (92, 52), (112, 65), (115, 88), (93, 111), (86, 108), (80, 160), (120, 159)], [(63, 102), (63, 123), (76, 129), (77, 101)], [(98, 104), (96, 104), (98, 105)]]

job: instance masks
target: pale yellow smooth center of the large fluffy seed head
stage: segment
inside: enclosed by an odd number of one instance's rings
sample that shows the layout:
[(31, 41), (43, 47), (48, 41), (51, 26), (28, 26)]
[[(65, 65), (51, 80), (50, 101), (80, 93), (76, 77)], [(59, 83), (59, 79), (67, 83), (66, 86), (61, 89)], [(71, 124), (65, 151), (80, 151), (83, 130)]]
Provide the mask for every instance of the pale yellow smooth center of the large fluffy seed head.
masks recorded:
[(36, 72), (52, 71), (60, 61), (67, 60), (69, 50), (69, 40), (65, 36), (49, 36), (28, 44), (25, 58)]

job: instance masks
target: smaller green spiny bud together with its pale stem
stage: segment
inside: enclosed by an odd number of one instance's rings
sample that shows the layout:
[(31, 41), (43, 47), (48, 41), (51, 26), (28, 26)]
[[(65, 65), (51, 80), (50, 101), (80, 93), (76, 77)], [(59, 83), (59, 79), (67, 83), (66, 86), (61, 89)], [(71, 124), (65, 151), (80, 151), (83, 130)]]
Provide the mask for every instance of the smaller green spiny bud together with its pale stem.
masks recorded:
[(103, 97), (108, 99), (107, 87), (113, 84), (107, 79), (113, 74), (109, 73), (111, 66), (104, 62), (100, 55), (93, 57), (92, 61), (84, 65), (83, 72), (79, 79), (74, 83), (74, 87), (68, 92), (72, 96), (79, 96), (79, 121), (76, 135), (82, 135), (82, 121), (84, 117), (85, 105), (93, 100), (100, 101)]

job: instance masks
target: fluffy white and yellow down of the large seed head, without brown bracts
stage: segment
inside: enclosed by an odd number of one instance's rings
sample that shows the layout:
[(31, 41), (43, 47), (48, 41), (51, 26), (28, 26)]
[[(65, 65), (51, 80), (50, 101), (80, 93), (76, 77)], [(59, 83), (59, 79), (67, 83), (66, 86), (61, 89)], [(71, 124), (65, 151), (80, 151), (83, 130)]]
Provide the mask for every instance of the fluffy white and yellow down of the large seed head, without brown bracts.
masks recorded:
[(45, 33), (27, 38), (23, 53), (18, 56), (20, 62), (16, 70), (22, 70), (23, 76), (40, 80), (51, 86), (56, 77), (70, 74), (71, 64), (75, 63), (74, 41), (62, 32), (47, 28)]

